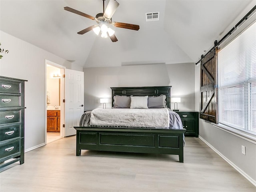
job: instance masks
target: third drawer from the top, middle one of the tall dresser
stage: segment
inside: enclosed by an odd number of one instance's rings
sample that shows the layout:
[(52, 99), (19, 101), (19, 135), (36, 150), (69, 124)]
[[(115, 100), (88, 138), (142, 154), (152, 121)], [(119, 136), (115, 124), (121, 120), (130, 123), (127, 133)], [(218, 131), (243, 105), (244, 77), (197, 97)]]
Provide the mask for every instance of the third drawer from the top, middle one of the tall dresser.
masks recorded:
[(0, 111), (0, 124), (20, 122), (20, 110)]

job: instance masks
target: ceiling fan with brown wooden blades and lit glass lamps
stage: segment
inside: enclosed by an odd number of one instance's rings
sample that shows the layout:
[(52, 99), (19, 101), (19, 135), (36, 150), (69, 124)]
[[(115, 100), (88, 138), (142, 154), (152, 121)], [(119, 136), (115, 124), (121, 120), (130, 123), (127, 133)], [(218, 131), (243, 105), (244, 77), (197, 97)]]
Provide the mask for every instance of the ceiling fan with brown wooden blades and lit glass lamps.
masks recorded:
[(126, 29), (132, 29), (132, 30), (139, 30), (139, 25), (134, 24), (128, 24), (128, 23), (120, 23), (120, 22), (112, 22), (112, 16), (116, 9), (119, 6), (119, 3), (116, 0), (109, 0), (108, 6), (106, 7), (106, 10), (104, 9), (104, 1), (103, 1), (103, 13), (98, 13), (96, 17), (90, 16), (88, 14), (85, 14), (83, 12), (80, 12), (78, 10), (72, 9), (70, 7), (64, 7), (64, 10), (70, 11), (72, 13), (84, 16), (86, 18), (95, 20), (97, 22), (97, 25), (92, 25), (80, 32), (78, 34), (85, 34), (86, 32), (89, 32), (90, 30), (93, 30), (94, 33), (97, 35), (101, 32), (101, 37), (107, 38), (108, 36), (112, 40), (112, 42), (118, 41), (116, 36), (114, 35), (114, 30), (109, 28), (108, 26), (112, 25), (119, 28), (126, 28)]

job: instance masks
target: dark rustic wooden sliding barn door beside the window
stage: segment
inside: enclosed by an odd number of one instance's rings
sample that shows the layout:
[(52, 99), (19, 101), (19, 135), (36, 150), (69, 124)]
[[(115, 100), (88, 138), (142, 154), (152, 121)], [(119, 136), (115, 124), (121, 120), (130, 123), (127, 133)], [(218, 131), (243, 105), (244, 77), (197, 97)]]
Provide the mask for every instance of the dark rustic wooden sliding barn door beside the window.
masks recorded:
[(214, 48), (201, 61), (200, 69), (200, 118), (218, 123), (218, 47)]

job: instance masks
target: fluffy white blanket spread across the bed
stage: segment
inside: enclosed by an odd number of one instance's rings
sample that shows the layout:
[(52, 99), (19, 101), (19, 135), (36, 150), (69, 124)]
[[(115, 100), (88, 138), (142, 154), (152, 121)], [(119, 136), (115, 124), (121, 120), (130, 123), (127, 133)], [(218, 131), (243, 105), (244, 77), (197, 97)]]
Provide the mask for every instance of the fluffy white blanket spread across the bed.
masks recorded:
[(92, 110), (90, 125), (169, 128), (167, 108), (158, 109), (101, 109)]

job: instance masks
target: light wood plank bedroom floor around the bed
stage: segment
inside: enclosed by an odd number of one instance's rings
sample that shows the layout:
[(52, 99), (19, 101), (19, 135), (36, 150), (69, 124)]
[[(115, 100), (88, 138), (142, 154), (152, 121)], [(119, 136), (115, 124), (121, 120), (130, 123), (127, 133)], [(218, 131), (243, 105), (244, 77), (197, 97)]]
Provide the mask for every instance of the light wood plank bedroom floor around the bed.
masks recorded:
[(256, 187), (199, 138), (178, 156), (82, 150), (76, 137), (25, 153), (0, 173), (1, 192), (255, 192)]

